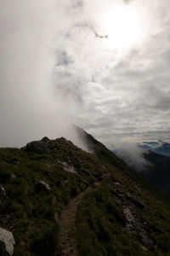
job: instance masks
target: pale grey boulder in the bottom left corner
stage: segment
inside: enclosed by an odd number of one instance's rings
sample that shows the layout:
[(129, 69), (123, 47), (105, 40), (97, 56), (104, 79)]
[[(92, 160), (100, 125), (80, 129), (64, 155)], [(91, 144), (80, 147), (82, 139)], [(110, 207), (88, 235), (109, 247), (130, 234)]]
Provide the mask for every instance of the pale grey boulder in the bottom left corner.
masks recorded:
[(14, 253), (14, 236), (12, 232), (0, 228), (0, 255), (11, 256)]

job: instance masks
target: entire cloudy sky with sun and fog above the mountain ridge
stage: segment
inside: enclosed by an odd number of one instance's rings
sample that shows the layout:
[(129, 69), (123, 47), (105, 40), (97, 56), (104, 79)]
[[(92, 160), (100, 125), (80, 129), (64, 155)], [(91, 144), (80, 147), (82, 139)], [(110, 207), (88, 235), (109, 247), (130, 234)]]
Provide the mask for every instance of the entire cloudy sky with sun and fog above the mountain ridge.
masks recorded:
[(1, 147), (169, 139), (169, 0), (0, 0), (0, 33)]

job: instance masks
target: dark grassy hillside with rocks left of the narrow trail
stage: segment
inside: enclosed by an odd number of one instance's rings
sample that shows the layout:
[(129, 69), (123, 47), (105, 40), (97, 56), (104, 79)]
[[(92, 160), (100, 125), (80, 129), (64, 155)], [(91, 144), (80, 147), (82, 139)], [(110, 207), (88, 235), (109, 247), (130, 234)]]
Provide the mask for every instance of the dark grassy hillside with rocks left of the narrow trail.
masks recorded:
[[(13, 231), (17, 256), (54, 255), (63, 207), (105, 172), (92, 154), (64, 138), (49, 141), (48, 148), (48, 154), (0, 148), (0, 183), (8, 195), (0, 226)], [(78, 174), (66, 172), (62, 162), (74, 166)], [(37, 191), (40, 181), (51, 191)]]

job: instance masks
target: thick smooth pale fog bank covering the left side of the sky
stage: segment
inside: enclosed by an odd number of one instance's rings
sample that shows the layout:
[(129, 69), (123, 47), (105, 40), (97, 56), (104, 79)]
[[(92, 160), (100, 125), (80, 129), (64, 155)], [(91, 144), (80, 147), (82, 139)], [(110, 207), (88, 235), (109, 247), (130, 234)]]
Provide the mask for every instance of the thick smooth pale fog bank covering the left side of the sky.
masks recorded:
[(44, 136), (74, 137), (67, 127), (77, 114), (76, 103), (53, 81), (64, 9), (53, 0), (1, 0), (0, 5), (1, 147), (20, 147)]

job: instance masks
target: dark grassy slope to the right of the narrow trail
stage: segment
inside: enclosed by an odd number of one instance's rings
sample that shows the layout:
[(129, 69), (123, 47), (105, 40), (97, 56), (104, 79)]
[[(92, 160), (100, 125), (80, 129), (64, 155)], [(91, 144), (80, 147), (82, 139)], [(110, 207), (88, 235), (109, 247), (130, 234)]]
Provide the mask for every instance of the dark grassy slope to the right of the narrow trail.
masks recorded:
[[(119, 192), (114, 189), (114, 182), (119, 182)], [(123, 184), (123, 186), (121, 186)], [(169, 206), (157, 201), (148, 192), (134, 187), (128, 177), (119, 169), (111, 172), (111, 177), (97, 189), (86, 195), (77, 212), (77, 242), (80, 255), (168, 255), (170, 253)], [(116, 194), (113, 194), (113, 189)], [(144, 210), (133, 202), (125, 200), (126, 194), (138, 196), (144, 202)], [(120, 195), (124, 194), (121, 201)], [(119, 199), (120, 201), (117, 201)], [(127, 219), (123, 207), (130, 207), (139, 224), (133, 232), (126, 228)], [(142, 241), (142, 232), (151, 241), (148, 246)], [(144, 251), (142, 246), (147, 247)]]

